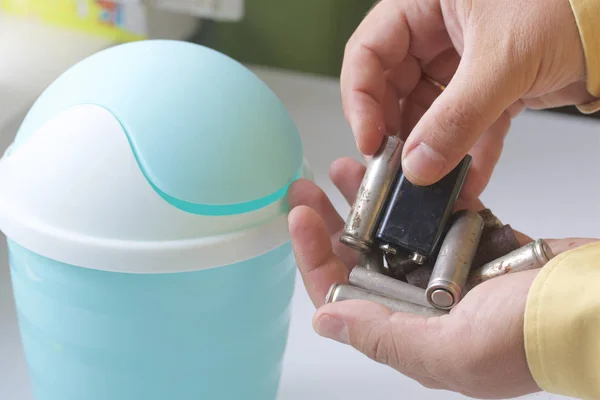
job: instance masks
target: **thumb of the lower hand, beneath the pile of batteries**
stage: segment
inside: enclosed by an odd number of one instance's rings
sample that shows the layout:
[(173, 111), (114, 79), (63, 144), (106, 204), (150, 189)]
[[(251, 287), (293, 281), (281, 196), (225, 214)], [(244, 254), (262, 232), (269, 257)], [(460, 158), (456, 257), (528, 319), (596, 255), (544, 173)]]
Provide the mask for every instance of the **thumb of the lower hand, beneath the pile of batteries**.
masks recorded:
[(313, 325), (324, 337), (348, 344), (379, 363), (417, 377), (427, 375), (431, 348), (441, 348), (440, 320), (393, 313), (365, 300), (345, 300), (317, 310)]

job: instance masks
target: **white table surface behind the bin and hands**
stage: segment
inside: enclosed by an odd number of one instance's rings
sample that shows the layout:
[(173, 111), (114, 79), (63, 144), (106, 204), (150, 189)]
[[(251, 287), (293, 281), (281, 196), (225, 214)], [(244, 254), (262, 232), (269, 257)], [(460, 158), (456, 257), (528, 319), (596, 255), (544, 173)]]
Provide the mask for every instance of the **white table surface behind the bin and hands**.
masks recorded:
[[(338, 157), (360, 159), (341, 109), (338, 82), (256, 69), (280, 96), (302, 134), (319, 185), (346, 215), (349, 206), (328, 178)], [(2, 110), (0, 110), (0, 113)], [(0, 151), (16, 125), (0, 129)], [(526, 112), (513, 123), (483, 201), (502, 221), (533, 237), (600, 237), (600, 122)], [(460, 399), (379, 365), (316, 335), (312, 304), (298, 279), (281, 400)], [(537, 394), (538, 399), (559, 399)], [(0, 399), (32, 400), (19, 339), (6, 247), (0, 245)], [(134, 400), (134, 399), (132, 399)]]

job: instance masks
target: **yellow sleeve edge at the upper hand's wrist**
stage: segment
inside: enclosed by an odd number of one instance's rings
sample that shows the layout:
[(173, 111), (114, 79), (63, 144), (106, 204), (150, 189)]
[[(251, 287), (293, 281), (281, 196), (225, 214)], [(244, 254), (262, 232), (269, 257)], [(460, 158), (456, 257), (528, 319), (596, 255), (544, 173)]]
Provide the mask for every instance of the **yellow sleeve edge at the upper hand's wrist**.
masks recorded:
[[(600, 0), (570, 0), (571, 9), (579, 28), (587, 70), (587, 89), (600, 98)], [(579, 111), (591, 114), (600, 110), (600, 99), (577, 106)]]

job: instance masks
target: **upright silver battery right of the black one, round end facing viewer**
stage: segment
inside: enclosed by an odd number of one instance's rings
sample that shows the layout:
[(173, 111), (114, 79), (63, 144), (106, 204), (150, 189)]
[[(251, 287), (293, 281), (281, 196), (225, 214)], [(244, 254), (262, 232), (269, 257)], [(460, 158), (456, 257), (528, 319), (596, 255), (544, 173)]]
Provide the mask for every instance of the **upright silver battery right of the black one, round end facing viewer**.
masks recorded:
[(476, 212), (454, 214), (426, 289), (432, 306), (449, 310), (460, 301), (482, 231), (483, 218)]

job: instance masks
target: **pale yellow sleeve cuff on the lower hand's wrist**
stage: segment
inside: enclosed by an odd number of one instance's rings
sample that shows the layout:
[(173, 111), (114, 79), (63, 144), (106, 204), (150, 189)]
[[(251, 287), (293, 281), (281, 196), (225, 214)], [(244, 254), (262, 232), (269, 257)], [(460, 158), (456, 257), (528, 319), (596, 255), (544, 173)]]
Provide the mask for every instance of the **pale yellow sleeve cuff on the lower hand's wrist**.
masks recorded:
[(542, 390), (600, 399), (600, 242), (542, 268), (527, 298), (524, 333), (527, 362)]

